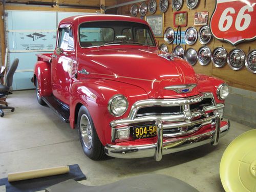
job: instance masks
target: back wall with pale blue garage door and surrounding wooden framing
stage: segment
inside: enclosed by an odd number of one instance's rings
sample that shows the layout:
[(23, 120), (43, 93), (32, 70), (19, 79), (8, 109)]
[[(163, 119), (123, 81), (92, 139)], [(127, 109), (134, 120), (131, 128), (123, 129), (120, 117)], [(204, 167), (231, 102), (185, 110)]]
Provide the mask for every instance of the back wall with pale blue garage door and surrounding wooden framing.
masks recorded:
[[(31, 77), (37, 60), (35, 54), (55, 49), (56, 29), (61, 19), (73, 15), (100, 13), (100, 5), (111, 6), (114, 0), (7, 0), (0, 2), (0, 38), (2, 66), (8, 48), (8, 65), (19, 58), (13, 90), (34, 89)], [(33, 5), (41, 4), (41, 5)], [(52, 6), (51, 6), (52, 5)], [(5, 19), (5, 24), (4, 24)], [(1, 66), (0, 65), (0, 66)]]

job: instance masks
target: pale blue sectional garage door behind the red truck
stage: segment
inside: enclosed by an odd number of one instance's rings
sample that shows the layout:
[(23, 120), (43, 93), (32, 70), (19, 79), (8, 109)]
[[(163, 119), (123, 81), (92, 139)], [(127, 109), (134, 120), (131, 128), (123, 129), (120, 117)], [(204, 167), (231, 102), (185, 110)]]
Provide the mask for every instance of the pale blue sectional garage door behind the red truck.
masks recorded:
[(31, 77), (35, 54), (52, 53), (56, 44), (56, 29), (61, 19), (91, 13), (50, 11), (5, 11), (8, 65), (19, 58), (14, 74), (13, 90), (34, 89)]

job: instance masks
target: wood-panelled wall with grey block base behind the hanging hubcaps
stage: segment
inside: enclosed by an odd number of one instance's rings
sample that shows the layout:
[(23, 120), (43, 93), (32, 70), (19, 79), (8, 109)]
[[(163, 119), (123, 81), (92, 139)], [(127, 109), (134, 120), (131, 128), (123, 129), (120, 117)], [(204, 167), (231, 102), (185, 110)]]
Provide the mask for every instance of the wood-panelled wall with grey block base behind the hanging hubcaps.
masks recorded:
[[(157, 11), (154, 15), (162, 14), (159, 9), (159, 1), (157, 2)], [(128, 1), (125, 0), (117, 0), (117, 4), (125, 3)], [(148, 3), (146, 1), (146, 3)], [(164, 13), (164, 30), (167, 27), (172, 27), (175, 31), (177, 28), (174, 27), (173, 18), (175, 10), (172, 9), (172, 1), (169, 0), (169, 7), (167, 11)], [(117, 8), (117, 14), (121, 15), (129, 15), (131, 16), (130, 10), (133, 4), (126, 5)], [(137, 3), (139, 7), (139, 3)], [(181, 31), (185, 31), (188, 27), (194, 26), (194, 15), (196, 12), (200, 11), (208, 11), (209, 19), (207, 24), (209, 25), (209, 20), (211, 18), (212, 13), (214, 12), (216, 5), (216, 0), (201, 0), (199, 1), (197, 7), (195, 9), (189, 9), (186, 6), (186, 1), (183, 0), (183, 5), (179, 11), (187, 11), (187, 26), (182, 27)], [(151, 15), (147, 12), (146, 16)], [(137, 17), (140, 17), (139, 14)], [(145, 19), (145, 17), (142, 17)], [(254, 24), (255, 25), (255, 24)], [(196, 27), (197, 31), (199, 31), (201, 26), (194, 26)], [(176, 47), (176, 44), (166, 44), (163, 37), (156, 37), (158, 45), (165, 44), (168, 47), (169, 52), (172, 52)], [(200, 44), (199, 40), (197, 40), (196, 44), (189, 46), (189, 45), (182, 45), (184, 50), (188, 48), (194, 48), (196, 51), (202, 45)], [(226, 49), (227, 53), (234, 48), (242, 49), (245, 54), (247, 55), (253, 49), (256, 49), (256, 40), (254, 41), (246, 41), (238, 44), (236, 46), (232, 46), (231, 44), (220, 41), (216, 38), (212, 38), (211, 41), (206, 45), (210, 48), (210, 50), (214, 50), (218, 46), (222, 46)], [(226, 99), (226, 108), (224, 115), (226, 118), (238, 121), (240, 123), (256, 127), (256, 74), (249, 72), (246, 67), (244, 66), (241, 70), (234, 71), (232, 70), (226, 63), (226, 65), (222, 68), (216, 68), (212, 62), (207, 66), (201, 66), (199, 62), (193, 66), (196, 73), (201, 73), (205, 75), (215, 76), (220, 79), (223, 79), (229, 86), (230, 86), (230, 95)]]

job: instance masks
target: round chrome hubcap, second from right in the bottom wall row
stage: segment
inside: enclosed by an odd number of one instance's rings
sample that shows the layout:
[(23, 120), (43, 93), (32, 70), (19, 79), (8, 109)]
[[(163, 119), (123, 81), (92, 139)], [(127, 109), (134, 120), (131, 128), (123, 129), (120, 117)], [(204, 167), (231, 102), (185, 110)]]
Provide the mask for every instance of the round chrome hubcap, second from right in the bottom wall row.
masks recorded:
[(234, 70), (240, 70), (245, 63), (245, 53), (242, 49), (232, 49), (228, 53), (227, 63), (229, 67)]

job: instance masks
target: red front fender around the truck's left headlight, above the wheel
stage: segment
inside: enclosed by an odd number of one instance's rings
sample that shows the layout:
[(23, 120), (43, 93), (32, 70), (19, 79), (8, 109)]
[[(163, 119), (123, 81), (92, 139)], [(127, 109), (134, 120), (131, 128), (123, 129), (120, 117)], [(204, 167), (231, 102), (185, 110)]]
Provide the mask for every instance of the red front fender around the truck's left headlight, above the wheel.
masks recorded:
[[(124, 95), (129, 101), (129, 108), (121, 117), (114, 117), (108, 111), (109, 100), (116, 94)], [(110, 122), (127, 117), (132, 104), (142, 99), (148, 99), (146, 92), (131, 84), (94, 78), (74, 82), (70, 96), (70, 125), (75, 127), (77, 106), (82, 104), (93, 119), (101, 143), (112, 143)]]

